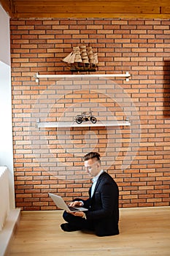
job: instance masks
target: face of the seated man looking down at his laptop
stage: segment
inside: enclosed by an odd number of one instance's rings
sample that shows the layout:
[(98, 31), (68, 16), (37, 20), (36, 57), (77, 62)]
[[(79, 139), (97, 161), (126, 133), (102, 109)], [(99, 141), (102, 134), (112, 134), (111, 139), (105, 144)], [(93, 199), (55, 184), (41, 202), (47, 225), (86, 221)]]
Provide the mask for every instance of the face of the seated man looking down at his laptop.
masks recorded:
[(85, 161), (85, 170), (91, 176), (95, 177), (101, 170), (101, 165), (97, 159), (88, 159)]

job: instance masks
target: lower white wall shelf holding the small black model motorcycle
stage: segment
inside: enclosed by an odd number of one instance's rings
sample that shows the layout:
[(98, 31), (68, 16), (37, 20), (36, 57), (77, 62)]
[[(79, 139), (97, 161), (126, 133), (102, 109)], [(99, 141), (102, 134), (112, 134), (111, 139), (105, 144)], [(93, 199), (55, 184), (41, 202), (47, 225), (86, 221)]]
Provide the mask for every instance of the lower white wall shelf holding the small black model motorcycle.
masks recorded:
[(97, 121), (96, 124), (91, 123), (90, 121), (82, 122), (82, 124), (77, 124), (76, 121), (73, 122), (36, 122), (36, 127), (38, 128), (67, 128), (67, 127), (124, 127), (130, 126), (129, 121)]

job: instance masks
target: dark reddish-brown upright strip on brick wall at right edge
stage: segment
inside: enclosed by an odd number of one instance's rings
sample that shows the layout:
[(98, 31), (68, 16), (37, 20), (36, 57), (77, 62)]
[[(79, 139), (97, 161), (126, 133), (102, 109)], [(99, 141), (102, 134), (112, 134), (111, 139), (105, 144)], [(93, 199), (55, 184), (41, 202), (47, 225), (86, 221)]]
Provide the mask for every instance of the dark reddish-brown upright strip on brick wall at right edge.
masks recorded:
[(163, 72), (163, 116), (170, 118), (170, 61), (164, 61)]

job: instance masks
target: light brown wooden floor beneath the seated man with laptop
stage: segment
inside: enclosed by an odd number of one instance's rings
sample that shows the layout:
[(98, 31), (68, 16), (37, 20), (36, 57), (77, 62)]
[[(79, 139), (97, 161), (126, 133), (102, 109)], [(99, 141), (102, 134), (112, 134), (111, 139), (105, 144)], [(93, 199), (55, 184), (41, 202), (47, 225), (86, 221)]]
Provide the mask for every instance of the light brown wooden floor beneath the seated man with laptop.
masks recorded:
[(120, 209), (120, 235), (63, 232), (62, 211), (23, 212), (9, 256), (169, 256), (170, 207)]

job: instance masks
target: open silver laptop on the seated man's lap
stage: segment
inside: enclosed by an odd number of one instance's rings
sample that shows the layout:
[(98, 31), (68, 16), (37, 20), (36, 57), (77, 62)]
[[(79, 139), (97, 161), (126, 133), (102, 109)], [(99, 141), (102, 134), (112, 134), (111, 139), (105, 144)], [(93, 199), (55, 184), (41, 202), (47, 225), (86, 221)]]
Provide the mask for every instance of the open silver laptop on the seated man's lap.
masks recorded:
[(50, 197), (53, 199), (55, 206), (58, 208), (61, 208), (62, 210), (68, 211), (68, 212), (76, 212), (76, 211), (88, 211), (87, 208), (81, 207), (81, 206), (67, 206), (66, 203), (64, 202), (63, 198), (60, 197), (59, 195), (55, 195), (52, 193), (48, 193)]

